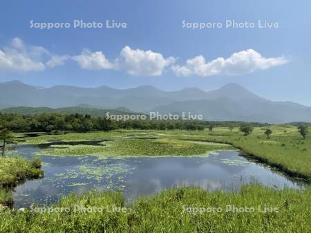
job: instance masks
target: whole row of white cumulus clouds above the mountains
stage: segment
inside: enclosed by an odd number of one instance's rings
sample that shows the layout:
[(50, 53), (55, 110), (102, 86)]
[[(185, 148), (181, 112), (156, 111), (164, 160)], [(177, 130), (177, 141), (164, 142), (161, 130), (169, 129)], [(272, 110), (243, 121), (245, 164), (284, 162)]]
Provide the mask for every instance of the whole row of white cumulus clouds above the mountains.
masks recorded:
[(288, 62), (285, 57), (263, 57), (255, 50), (243, 50), (232, 54), (227, 59), (218, 57), (206, 61), (197, 56), (187, 59), (184, 66), (174, 65), (174, 57), (164, 57), (152, 50), (122, 48), (120, 55), (114, 60), (106, 58), (102, 51), (82, 50), (79, 55), (55, 55), (41, 46), (30, 46), (19, 38), (12, 39), (9, 46), (0, 49), (0, 72), (44, 71), (47, 67), (64, 66), (72, 60), (87, 70), (124, 71), (133, 76), (160, 76), (166, 68), (171, 67), (176, 75), (239, 75), (256, 70), (265, 70)]

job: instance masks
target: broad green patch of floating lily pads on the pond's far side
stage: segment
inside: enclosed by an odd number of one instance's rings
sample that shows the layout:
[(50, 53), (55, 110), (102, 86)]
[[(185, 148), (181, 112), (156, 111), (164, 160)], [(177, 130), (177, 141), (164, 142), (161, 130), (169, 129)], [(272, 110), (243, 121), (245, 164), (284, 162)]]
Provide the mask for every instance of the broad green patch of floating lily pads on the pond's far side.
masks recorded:
[[(51, 149), (39, 151), (44, 155), (95, 155), (95, 156), (202, 156), (207, 151), (232, 149), (230, 145), (196, 143), (171, 138), (160, 139), (119, 139), (103, 142), (105, 146), (55, 145)], [(65, 147), (65, 148), (64, 148)]]

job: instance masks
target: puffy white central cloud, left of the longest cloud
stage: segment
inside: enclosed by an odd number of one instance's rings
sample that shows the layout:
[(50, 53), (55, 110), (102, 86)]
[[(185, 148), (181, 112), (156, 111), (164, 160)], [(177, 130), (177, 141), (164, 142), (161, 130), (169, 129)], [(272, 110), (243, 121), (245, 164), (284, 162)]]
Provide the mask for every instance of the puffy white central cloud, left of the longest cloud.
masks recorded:
[(134, 76), (158, 76), (162, 75), (164, 68), (175, 62), (175, 58), (165, 59), (162, 54), (151, 50), (133, 50), (125, 46), (120, 57), (115, 60), (115, 68), (124, 70)]

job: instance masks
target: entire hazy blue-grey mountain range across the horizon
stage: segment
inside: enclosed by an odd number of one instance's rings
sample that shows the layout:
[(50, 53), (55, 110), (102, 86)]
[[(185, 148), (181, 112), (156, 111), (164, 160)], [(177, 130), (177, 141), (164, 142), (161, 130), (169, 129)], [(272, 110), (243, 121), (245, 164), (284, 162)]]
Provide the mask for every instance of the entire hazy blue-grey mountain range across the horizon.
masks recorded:
[[(218, 90), (202, 91), (184, 88), (162, 91), (153, 86), (116, 89), (109, 86), (81, 88), (53, 86), (42, 88), (19, 81), (0, 83), (0, 109), (31, 106), (64, 108), (87, 106), (96, 109), (118, 109), (124, 112), (161, 114), (202, 114), (205, 120), (241, 120), (252, 122), (311, 122), (311, 107), (294, 102), (274, 102), (259, 97), (238, 84), (227, 84)], [(126, 109), (125, 109), (126, 108)]]

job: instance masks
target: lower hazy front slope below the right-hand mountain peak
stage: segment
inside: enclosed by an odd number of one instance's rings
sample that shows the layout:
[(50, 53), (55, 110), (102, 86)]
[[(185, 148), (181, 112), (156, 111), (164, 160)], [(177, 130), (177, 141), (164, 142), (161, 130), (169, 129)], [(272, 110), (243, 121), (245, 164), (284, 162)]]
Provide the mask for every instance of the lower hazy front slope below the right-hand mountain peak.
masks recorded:
[(311, 108), (268, 100), (264, 102), (246, 99), (230, 100), (229, 98), (191, 100), (158, 106), (153, 111), (162, 114), (172, 111), (178, 114), (183, 111), (191, 111), (192, 114), (202, 114), (205, 120), (243, 120), (270, 123), (311, 122)]

